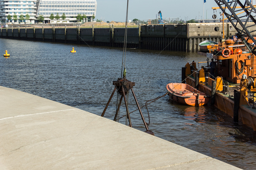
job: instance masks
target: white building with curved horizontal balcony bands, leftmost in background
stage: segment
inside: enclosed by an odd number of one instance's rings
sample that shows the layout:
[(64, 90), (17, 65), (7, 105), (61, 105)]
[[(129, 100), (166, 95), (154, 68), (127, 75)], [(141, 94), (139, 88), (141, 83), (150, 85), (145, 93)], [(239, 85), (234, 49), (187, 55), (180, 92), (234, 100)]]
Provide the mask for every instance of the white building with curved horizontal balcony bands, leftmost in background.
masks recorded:
[[(36, 2), (37, 0), (23, 0), (23, 1), (9, 1), (9, 0), (0, 0), (0, 21), (1, 23), (8, 22), (7, 16), (11, 15), (12, 20), (9, 22), (14, 22), (13, 15), (16, 14), (19, 19), (20, 15), (25, 16), (29, 15), (30, 19), (26, 20), (31, 22), (36, 17)], [(16, 20), (18, 22), (18, 20)]]

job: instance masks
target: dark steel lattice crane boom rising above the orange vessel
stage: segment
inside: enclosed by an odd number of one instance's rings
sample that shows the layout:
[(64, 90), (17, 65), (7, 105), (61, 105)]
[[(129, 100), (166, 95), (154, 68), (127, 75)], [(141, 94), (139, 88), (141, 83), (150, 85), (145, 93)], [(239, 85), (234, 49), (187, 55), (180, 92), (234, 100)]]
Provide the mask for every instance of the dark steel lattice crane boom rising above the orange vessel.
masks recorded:
[[(232, 26), (237, 31), (237, 36), (241, 38), (245, 46), (248, 48), (248, 50), (256, 55), (256, 40), (252, 36), (252, 32), (255, 32), (256, 30), (249, 31), (248, 28), (256, 25), (256, 9), (255, 6), (250, 3), (249, 0), (243, 0), (243, 3), (241, 0), (214, 0), (220, 9), (222, 10), (223, 14), (226, 15), (227, 19), (230, 21)], [(239, 14), (244, 13), (245, 15), (242, 15), (238, 17)], [(246, 21), (243, 23), (241, 21), (241, 18), (245, 18)], [(249, 19), (254, 24), (248, 24)], [(238, 26), (241, 26), (242, 28), (238, 28)], [(248, 37), (248, 38), (247, 38)], [(249, 43), (248, 41), (252, 41), (253, 43)]]

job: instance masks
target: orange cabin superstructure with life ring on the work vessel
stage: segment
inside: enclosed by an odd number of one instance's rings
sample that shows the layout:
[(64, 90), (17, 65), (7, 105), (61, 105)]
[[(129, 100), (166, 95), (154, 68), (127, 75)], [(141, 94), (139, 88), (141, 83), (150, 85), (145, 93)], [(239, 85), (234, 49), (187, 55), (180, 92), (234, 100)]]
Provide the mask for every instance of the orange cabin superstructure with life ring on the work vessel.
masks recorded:
[(227, 81), (240, 83), (243, 75), (255, 77), (254, 55), (240, 40), (227, 39), (217, 47), (212, 46), (210, 54), (216, 59), (216, 74)]

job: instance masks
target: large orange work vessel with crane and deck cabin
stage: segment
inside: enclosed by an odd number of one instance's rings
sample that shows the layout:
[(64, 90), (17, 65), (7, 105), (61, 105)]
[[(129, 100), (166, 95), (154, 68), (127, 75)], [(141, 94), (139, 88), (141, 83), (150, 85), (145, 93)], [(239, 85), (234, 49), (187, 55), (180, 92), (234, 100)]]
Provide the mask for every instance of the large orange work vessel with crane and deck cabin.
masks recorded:
[[(255, 18), (250, 15), (251, 12), (256, 13), (256, 9), (252, 4), (239, 0), (237, 4), (215, 1), (238, 33), (233, 39), (224, 39), (223, 31), (221, 41), (217, 46), (211, 46), (209, 53), (198, 52), (208, 57), (205, 62), (200, 62), (207, 65), (199, 69), (199, 63), (187, 63), (182, 68), (182, 82), (210, 95), (211, 104), (232, 116), (234, 122), (248, 125), (256, 131), (256, 40), (251, 34), (254, 30), (248, 31), (249, 26), (246, 25), (249, 19), (256, 24)], [(246, 13), (245, 23), (241, 22), (231, 5), (240, 6)], [(242, 29), (237, 28), (238, 25)], [(212, 59), (210, 64), (209, 58)]]

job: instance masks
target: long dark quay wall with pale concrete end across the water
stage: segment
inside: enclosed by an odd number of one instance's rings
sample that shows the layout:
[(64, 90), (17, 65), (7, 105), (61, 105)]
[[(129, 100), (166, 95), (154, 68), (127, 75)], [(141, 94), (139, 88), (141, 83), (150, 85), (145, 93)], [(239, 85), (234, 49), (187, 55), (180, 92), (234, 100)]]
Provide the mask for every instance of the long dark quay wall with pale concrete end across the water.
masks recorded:
[[(252, 25), (253, 23), (247, 24)], [(240, 26), (238, 28), (242, 29)], [(248, 27), (249, 31), (256, 26)], [(127, 29), (127, 47), (147, 50), (197, 52), (199, 43), (211, 39), (219, 42), (235, 35), (230, 23), (188, 23), (180, 25), (139, 25)], [(0, 38), (123, 47), (125, 28), (1, 28)], [(255, 34), (255, 35), (254, 35)], [(256, 33), (252, 34), (256, 36)]]

